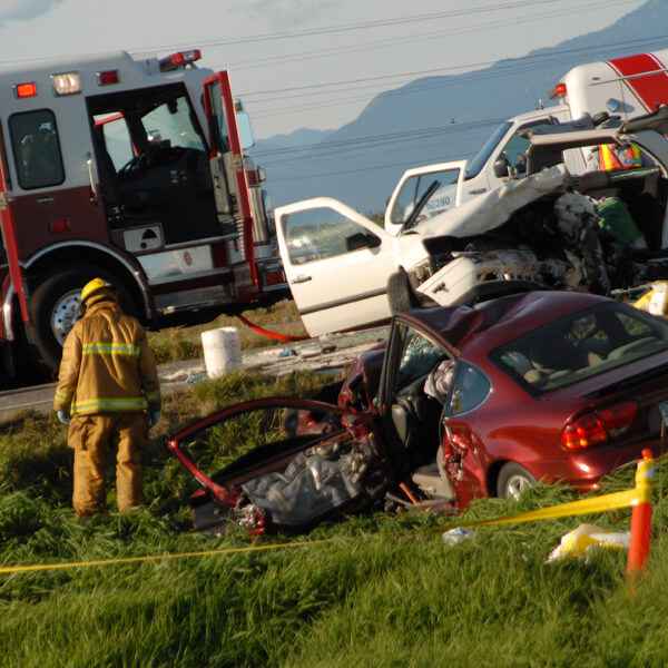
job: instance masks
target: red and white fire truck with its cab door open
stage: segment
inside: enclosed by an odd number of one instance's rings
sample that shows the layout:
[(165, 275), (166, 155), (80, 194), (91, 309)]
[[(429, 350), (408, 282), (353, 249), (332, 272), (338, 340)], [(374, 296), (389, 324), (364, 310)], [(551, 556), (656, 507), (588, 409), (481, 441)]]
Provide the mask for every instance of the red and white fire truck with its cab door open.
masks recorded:
[(199, 59), (118, 52), (0, 71), (6, 373), (30, 351), (57, 367), (94, 276), (154, 328), (286, 288), (264, 176), (244, 155), (248, 117), (228, 73)]

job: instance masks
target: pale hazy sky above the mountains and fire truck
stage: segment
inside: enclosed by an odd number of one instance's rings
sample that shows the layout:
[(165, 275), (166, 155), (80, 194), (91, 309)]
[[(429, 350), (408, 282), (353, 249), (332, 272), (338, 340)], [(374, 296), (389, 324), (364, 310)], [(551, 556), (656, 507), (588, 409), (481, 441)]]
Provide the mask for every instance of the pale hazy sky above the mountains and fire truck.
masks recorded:
[[(435, 75), (449, 73), (445, 68), (522, 56), (603, 28), (640, 4), (642, 0), (0, 0), (0, 61), (116, 49), (166, 53), (173, 47), (202, 46), (203, 63), (230, 70), (256, 136), (267, 137), (299, 127), (338, 127), (353, 120), (374, 94), (419, 76), (394, 75), (436, 68), (442, 70)], [(351, 82), (374, 77), (380, 79)], [(299, 89), (337, 81), (343, 84)]]

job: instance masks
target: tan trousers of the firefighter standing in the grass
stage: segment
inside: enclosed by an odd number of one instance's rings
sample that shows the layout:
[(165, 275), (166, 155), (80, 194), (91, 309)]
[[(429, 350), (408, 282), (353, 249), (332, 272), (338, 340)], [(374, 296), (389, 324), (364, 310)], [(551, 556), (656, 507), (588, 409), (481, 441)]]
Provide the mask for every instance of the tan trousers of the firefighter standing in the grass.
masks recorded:
[(75, 415), (68, 443), (75, 450), (72, 505), (79, 517), (106, 509), (105, 470), (116, 452), (116, 498), (125, 512), (141, 504), (141, 450), (148, 440), (145, 413)]

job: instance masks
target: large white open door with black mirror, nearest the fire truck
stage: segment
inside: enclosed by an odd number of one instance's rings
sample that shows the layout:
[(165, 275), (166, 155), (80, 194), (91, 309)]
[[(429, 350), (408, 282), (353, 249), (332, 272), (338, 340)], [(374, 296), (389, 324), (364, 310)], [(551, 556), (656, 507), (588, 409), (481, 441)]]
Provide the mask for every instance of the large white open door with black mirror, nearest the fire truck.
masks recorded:
[(390, 318), (397, 262), (381, 226), (328, 197), (279, 207), (275, 217), (285, 276), (312, 336)]

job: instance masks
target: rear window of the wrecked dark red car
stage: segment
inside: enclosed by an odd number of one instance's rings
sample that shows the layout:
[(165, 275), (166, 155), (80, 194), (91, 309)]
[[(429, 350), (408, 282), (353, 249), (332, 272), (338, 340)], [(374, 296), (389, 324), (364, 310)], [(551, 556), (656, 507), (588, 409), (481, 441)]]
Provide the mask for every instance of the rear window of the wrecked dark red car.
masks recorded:
[(668, 324), (623, 304), (561, 317), (492, 352), (532, 394), (568, 387), (668, 350)]

